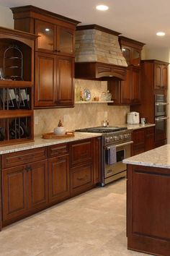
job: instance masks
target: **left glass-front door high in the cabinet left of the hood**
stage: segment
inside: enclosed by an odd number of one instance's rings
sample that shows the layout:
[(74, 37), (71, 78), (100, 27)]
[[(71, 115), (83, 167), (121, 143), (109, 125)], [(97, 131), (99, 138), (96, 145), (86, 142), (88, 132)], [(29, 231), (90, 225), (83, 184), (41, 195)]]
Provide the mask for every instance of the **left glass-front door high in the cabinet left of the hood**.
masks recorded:
[(41, 20), (35, 21), (35, 34), (38, 35), (36, 48), (48, 51), (54, 51), (54, 33), (55, 26)]

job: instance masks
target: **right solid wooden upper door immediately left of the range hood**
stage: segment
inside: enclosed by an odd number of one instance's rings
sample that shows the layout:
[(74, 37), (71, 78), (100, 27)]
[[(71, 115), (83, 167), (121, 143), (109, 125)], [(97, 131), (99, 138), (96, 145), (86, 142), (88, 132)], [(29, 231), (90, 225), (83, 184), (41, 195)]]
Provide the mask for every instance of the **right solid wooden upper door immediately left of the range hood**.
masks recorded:
[(73, 106), (73, 59), (58, 56), (57, 105)]

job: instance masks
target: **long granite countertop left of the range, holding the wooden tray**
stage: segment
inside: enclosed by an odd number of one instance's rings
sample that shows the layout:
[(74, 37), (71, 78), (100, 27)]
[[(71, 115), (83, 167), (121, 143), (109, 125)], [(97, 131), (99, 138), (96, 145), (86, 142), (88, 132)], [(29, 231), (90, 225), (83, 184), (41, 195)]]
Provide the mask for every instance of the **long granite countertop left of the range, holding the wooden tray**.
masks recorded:
[(65, 142), (72, 142), (75, 140), (84, 140), (84, 139), (89, 139), (92, 137), (98, 137), (101, 135), (102, 134), (100, 134), (100, 133), (75, 132), (74, 137), (68, 137), (66, 139), (58, 139), (58, 140), (42, 139), (39, 136), (39, 137), (35, 137), (34, 142), (26, 142), (26, 143), (21, 143), (21, 144), (17, 144), (17, 145), (9, 145), (9, 146), (0, 147), (0, 155), (3, 155), (5, 153), (22, 151), (22, 150), (29, 150), (32, 148), (41, 148), (41, 147), (55, 145), (55, 144), (61, 144), (61, 143), (65, 143)]

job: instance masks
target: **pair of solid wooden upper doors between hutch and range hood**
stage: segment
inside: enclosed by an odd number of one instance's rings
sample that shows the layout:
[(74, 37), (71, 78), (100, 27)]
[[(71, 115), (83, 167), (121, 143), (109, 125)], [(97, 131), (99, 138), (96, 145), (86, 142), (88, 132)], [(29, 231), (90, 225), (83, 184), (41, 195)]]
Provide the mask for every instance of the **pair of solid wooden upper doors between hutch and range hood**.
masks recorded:
[(35, 106), (73, 106), (73, 58), (35, 54)]

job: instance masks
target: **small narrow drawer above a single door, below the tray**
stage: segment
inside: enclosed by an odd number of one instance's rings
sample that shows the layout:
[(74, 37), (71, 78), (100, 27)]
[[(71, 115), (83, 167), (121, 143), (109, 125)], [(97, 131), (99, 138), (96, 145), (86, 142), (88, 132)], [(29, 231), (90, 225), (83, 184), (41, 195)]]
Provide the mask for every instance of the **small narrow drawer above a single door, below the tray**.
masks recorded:
[(58, 144), (48, 147), (48, 157), (66, 155), (69, 152), (68, 144)]

